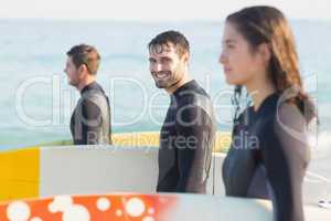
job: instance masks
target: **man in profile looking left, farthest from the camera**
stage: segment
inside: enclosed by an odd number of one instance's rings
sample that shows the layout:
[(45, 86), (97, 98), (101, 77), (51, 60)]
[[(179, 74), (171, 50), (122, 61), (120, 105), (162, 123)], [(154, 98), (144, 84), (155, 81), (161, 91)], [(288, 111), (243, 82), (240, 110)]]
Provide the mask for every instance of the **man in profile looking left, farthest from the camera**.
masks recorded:
[(90, 45), (73, 46), (67, 53), (64, 72), (68, 83), (81, 92), (71, 118), (75, 145), (111, 144), (109, 99), (96, 83), (100, 55)]

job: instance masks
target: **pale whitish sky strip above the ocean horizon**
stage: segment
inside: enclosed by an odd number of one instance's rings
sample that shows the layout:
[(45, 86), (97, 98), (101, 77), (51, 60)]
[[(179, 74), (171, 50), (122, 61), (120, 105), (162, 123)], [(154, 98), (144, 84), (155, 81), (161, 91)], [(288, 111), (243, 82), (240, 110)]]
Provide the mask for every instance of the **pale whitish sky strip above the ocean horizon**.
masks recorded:
[(328, 0), (2, 0), (0, 18), (220, 20), (254, 4), (275, 6), (290, 19), (331, 20)]

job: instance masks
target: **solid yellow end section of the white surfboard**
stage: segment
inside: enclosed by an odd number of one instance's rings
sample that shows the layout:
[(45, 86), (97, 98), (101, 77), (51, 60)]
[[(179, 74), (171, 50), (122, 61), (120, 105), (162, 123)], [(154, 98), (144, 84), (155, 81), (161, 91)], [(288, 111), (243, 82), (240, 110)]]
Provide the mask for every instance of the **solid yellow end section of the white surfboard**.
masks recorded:
[(0, 168), (0, 201), (39, 197), (39, 147), (2, 151)]

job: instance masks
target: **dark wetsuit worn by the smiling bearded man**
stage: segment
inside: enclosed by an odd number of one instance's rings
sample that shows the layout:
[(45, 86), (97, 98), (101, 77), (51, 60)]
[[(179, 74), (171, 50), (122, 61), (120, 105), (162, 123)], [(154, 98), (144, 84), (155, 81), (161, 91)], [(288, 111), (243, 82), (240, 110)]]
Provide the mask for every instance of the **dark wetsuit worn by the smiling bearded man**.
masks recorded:
[(191, 81), (171, 95), (160, 135), (157, 191), (204, 193), (214, 138), (211, 99)]

